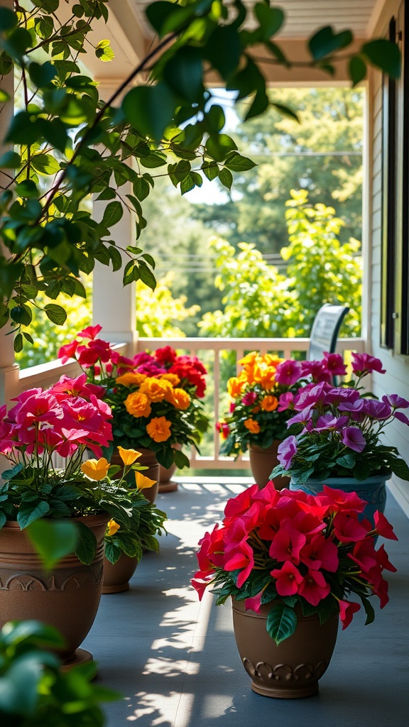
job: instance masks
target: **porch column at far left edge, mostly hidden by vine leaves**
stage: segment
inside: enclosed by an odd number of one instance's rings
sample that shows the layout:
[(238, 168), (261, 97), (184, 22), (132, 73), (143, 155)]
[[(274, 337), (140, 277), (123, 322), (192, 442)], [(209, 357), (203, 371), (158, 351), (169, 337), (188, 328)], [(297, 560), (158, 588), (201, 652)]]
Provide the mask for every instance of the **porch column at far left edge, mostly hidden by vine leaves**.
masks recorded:
[[(3, 7), (13, 9), (12, 0), (3, 0)], [(13, 74), (9, 73), (1, 79), (1, 88), (7, 91), (10, 100), (0, 105), (0, 153), (4, 152), (2, 141), (6, 135), (10, 121), (14, 112), (14, 84)], [(1, 190), (9, 182), (9, 178), (0, 172), (0, 188)], [(0, 329), (0, 406), (4, 403), (9, 405), (10, 399), (18, 393), (19, 367), (15, 363), (15, 354), (13, 348), (14, 337), (12, 334), (7, 336), (10, 331), (9, 326)]]

